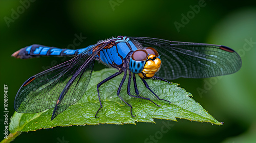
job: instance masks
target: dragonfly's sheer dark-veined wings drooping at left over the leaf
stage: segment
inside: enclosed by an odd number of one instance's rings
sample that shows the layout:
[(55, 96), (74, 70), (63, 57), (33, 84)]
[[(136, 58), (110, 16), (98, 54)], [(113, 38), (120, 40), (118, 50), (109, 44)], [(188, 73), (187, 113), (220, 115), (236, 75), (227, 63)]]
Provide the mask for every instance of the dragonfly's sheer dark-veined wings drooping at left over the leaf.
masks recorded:
[(15, 111), (37, 113), (55, 107), (54, 118), (76, 103), (86, 92), (96, 54), (103, 47), (92, 46), (73, 59), (31, 77), (16, 95)]

